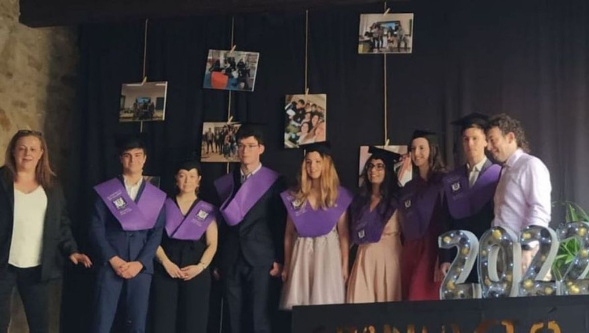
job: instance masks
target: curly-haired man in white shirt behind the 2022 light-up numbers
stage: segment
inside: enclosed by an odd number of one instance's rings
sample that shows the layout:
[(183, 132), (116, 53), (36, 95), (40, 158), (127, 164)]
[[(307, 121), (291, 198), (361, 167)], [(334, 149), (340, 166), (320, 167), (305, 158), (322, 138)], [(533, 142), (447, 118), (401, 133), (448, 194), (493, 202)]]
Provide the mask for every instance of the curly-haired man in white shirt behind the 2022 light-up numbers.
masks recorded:
[[(528, 154), (530, 148), (519, 121), (499, 114), (489, 121), (489, 151), (503, 164), (495, 191), (493, 226), (519, 233), (529, 225), (548, 226), (551, 201), (550, 172), (540, 159)], [(522, 266), (527, 266), (531, 251), (524, 249)]]

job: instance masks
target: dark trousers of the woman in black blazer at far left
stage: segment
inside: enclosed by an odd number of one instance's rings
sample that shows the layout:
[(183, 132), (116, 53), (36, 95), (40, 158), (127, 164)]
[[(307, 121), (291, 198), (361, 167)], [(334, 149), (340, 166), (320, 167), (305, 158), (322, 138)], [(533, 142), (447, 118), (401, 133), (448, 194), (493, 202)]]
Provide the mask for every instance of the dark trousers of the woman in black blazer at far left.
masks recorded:
[(31, 333), (49, 332), (49, 283), (41, 282), (41, 266), (17, 268), (8, 265), (0, 276), (0, 332), (8, 331), (11, 296), (18, 288)]

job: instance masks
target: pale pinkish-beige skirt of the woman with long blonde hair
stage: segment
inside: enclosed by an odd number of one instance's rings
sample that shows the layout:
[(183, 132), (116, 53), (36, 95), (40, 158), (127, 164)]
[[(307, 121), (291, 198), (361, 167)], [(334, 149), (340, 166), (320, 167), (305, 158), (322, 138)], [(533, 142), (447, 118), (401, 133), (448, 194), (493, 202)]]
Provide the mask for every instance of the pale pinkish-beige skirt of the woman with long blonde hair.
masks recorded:
[(342, 253), (336, 228), (325, 236), (297, 237), (288, 270), (280, 298), (281, 309), (345, 302)]

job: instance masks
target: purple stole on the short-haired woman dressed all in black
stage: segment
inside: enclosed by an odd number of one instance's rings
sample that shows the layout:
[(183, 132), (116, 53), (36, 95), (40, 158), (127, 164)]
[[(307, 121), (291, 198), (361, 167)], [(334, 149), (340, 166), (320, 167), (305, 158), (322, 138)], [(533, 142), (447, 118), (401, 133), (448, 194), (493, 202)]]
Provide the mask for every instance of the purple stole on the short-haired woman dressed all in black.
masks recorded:
[(215, 206), (199, 199), (184, 216), (176, 202), (168, 198), (166, 199), (166, 233), (173, 239), (198, 240), (216, 215)]

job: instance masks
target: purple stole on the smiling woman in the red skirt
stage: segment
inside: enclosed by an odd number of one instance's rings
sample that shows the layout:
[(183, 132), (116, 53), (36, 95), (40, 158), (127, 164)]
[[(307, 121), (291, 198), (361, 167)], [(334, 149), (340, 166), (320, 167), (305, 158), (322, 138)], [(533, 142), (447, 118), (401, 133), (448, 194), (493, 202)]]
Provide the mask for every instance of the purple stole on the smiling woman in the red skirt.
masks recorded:
[(440, 194), (438, 182), (426, 182), (421, 177), (402, 187), (399, 206), (402, 213), (401, 230), (405, 239), (419, 239), (425, 235)]

